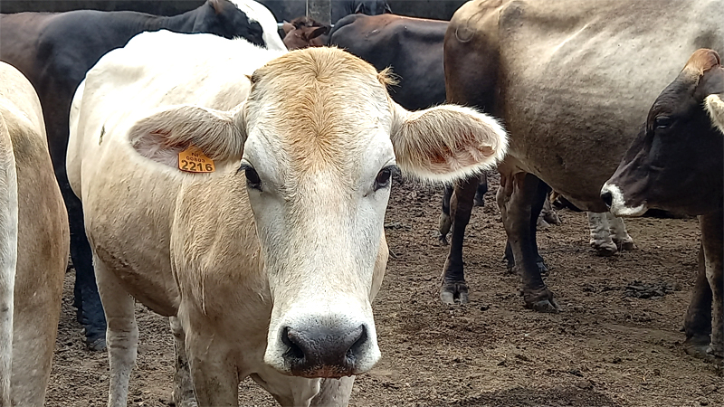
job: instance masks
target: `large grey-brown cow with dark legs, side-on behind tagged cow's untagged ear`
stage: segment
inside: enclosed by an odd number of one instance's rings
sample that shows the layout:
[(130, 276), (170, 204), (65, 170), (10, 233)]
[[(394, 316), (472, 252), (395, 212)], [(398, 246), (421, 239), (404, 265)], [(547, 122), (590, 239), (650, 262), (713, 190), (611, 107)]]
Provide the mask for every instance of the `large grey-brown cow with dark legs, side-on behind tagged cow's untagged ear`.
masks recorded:
[[(540, 275), (535, 221), (550, 185), (578, 208), (607, 210), (614, 174), (666, 78), (697, 48), (724, 49), (721, 1), (473, 0), (445, 34), (449, 101), (504, 119), (510, 150), (498, 204), (525, 304), (558, 310)], [(662, 58), (665, 55), (665, 58)], [(545, 183), (545, 184), (544, 184)], [(467, 292), (462, 234), (477, 182), (456, 187), (443, 290)]]

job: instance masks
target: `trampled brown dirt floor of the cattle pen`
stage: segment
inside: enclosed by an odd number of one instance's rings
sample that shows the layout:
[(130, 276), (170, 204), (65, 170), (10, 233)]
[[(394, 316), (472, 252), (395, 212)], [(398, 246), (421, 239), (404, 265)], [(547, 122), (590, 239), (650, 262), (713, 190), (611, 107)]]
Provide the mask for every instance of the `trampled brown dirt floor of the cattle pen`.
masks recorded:
[[(491, 191), (497, 188), (491, 177)], [(392, 255), (373, 308), (382, 359), (357, 376), (350, 406), (724, 405), (722, 368), (684, 354), (680, 328), (696, 273), (696, 219), (627, 221), (638, 249), (610, 258), (588, 247), (585, 213), (538, 233), (548, 287), (564, 312), (523, 308), (501, 261), (494, 194), (475, 208), (465, 246), (470, 304), (438, 298), (448, 248), (436, 237), (441, 188), (395, 181), (386, 215)], [(102, 406), (108, 359), (81, 343), (65, 280), (48, 406)], [(663, 296), (648, 297), (648, 294)], [(657, 292), (658, 291), (658, 292)], [(137, 306), (140, 344), (130, 406), (170, 404), (167, 319)], [(246, 380), (243, 406), (276, 405)]]

